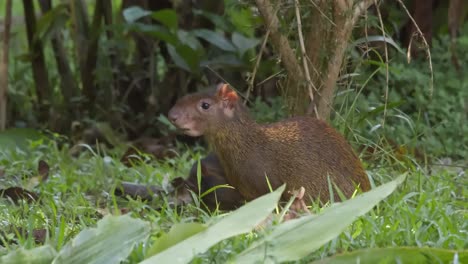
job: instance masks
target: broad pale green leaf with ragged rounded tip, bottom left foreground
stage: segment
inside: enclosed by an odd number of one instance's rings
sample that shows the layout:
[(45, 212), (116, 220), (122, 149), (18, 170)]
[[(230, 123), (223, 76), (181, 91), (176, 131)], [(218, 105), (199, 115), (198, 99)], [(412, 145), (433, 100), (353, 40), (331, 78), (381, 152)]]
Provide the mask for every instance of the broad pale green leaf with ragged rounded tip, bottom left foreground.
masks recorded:
[(85, 229), (68, 242), (53, 263), (120, 263), (149, 232), (145, 221), (129, 215), (107, 215), (96, 228)]

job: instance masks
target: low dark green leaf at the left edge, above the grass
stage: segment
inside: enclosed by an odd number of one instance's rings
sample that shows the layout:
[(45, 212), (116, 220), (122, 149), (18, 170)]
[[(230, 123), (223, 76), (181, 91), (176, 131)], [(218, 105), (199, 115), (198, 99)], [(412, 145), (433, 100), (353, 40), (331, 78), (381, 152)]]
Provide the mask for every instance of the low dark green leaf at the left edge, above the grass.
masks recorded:
[(10, 128), (0, 131), (0, 151), (26, 150), (30, 141), (47, 140), (46, 136), (32, 128)]

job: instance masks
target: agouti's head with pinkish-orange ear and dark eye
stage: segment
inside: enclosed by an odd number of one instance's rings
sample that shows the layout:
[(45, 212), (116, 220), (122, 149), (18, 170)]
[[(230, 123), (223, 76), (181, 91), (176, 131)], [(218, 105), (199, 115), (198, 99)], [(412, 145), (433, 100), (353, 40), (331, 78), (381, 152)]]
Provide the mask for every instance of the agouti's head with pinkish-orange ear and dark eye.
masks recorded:
[(242, 111), (237, 93), (221, 83), (214, 94), (200, 92), (180, 98), (169, 111), (169, 120), (184, 134), (198, 137), (221, 122), (238, 118)]

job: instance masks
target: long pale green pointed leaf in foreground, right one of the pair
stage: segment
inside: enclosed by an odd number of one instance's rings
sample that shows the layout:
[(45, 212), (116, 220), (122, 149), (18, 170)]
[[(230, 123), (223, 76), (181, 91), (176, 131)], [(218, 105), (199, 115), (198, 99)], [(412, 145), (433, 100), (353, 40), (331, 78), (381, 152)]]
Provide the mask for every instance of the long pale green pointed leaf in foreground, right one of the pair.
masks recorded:
[(344, 231), (403, 182), (405, 175), (336, 204), (318, 216), (306, 216), (277, 226), (263, 239), (239, 254), (235, 263), (283, 262), (301, 259)]

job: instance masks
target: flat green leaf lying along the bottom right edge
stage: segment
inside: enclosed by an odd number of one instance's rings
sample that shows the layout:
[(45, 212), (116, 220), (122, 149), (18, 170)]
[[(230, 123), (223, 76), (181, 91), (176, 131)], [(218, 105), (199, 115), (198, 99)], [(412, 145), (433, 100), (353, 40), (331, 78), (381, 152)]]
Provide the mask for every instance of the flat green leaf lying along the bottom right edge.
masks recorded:
[(316, 264), (373, 264), (373, 263), (468, 263), (468, 251), (441, 248), (373, 248), (339, 254), (318, 260)]

